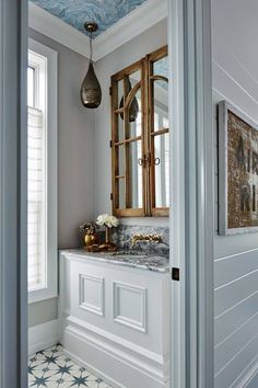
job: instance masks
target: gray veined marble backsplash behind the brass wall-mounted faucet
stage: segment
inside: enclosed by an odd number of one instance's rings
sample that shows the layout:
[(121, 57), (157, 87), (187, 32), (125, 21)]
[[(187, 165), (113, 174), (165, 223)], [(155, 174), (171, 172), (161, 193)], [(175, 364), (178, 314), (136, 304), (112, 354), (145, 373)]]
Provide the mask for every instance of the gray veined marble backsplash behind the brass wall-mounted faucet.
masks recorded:
[[(132, 247), (131, 237), (133, 235), (157, 235), (162, 237), (162, 242), (137, 241)], [(112, 241), (115, 242), (120, 250), (148, 252), (148, 254), (159, 254), (166, 258), (169, 255), (168, 227), (119, 225), (112, 230)]]

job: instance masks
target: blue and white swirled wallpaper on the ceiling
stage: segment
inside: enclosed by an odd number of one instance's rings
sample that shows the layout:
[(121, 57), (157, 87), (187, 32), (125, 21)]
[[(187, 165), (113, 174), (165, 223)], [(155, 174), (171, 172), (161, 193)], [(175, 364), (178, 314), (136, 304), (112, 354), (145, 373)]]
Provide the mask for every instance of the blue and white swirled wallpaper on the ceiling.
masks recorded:
[(145, 0), (32, 0), (45, 11), (85, 33), (83, 24), (94, 21), (98, 34), (141, 5)]

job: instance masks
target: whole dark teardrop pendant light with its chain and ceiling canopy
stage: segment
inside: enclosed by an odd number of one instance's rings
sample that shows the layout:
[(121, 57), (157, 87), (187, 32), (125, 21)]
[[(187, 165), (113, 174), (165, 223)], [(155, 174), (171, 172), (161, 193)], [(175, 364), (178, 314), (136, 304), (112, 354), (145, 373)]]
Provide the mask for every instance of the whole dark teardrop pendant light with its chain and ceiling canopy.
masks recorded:
[(92, 61), (92, 34), (97, 31), (98, 26), (95, 22), (86, 22), (84, 28), (90, 33), (91, 55), (87, 72), (81, 87), (81, 102), (85, 107), (95, 109), (102, 102), (102, 89)]

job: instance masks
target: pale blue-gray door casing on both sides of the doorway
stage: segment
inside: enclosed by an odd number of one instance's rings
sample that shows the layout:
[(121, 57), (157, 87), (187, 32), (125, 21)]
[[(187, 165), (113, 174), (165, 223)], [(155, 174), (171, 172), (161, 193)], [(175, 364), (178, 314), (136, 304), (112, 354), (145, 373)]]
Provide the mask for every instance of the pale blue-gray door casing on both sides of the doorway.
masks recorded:
[[(212, 388), (210, 0), (168, 1), (174, 72), (172, 264), (180, 267), (180, 282), (173, 282), (172, 290), (172, 381), (177, 388), (189, 387), (190, 380), (190, 388)], [(4, 388), (26, 387), (26, 0), (0, 0), (4, 58), (0, 64), (0, 378)]]

